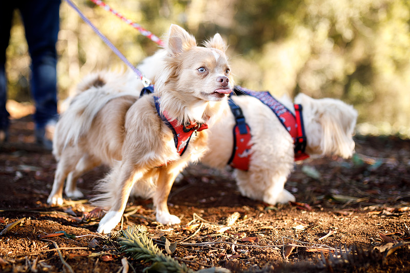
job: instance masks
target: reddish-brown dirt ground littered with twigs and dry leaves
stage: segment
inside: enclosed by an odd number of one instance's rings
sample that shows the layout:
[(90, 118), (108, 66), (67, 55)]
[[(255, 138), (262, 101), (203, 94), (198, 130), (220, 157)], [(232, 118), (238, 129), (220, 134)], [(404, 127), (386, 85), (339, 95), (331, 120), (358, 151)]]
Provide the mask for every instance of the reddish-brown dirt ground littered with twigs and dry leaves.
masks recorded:
[[(0, 230), (23, 220), (0, 236), (0, 271), (69, 272), (67, 263), (74, 272), (126, 272), (124, 258), (129, 272), (149, 266), (120, 253), (115, 239), (95, 233), (103, 213), (87, 200), (47, 205), (56, 162), (33, 143), (29, 117), (11, 125), (10, 140), (0, 148)], [(180, 225), (159, 225), (151, 200), (135, 199), (122, 228), (148, 227), (161, 249), (164, 238), (177, 242), (171, 257), (194, 270), (408, 272), (410, 141), (355, 140), (353, 159), (296, 164), (285, 185), (296, 203), (271, 206), (242, 197), (230, 171), (195, 165), (174, 184), (169, 199)], [(81, 179), (87, 198), (105, 172), (99, 167)], [(61, 230), (77, 237), (52, 235)]]

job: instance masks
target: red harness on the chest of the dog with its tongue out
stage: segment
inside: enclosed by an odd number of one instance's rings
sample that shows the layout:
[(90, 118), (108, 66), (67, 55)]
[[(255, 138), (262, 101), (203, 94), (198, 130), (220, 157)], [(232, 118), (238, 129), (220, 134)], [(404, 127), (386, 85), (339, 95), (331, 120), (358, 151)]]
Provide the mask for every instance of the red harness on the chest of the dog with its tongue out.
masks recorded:
[(196, 135), (196, 132), (208, 129), (208, 125), (206, 123), (189, 123), (188, 125), (185, 125), (179, 123), (176, 119), (170, 121), (167, 112), (164, 111), (161, 114), (159, 111), (159, 97), (154, 96), (154, 101), (158, 115), (163, 122), (167, 124), (174, 135), (175, 148), (177, 153), (181, 156), (187, 150), (192, 134), (195, 133)]

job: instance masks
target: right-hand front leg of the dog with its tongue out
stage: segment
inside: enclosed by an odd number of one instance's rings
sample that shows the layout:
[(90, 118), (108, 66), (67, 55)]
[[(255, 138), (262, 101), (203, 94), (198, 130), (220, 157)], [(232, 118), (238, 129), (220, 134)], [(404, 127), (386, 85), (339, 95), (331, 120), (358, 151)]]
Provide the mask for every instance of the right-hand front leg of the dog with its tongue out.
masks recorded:
[(179, 171), (168, 170), (167, 167), (161, 167), (159, 171), (157, 188), (153, 197), (154, 206), (156, 207), (156, 220), (161, 224), (179, 224), (181, 220), (168, 211), (168, 196), (172, 184), (178, 176)]

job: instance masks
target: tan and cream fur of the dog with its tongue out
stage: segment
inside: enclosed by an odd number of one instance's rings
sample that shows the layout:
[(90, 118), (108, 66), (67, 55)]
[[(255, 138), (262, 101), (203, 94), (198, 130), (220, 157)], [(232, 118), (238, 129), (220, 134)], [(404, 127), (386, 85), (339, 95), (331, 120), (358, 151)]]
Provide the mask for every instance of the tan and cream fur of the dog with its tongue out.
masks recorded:
[[(209, 41), (208, 48), (197, 47), (194, 37), (176, 25), (171, 26), (168, 37), (164, 49), (167, 61), (155, 86), (160, 111), (180, 122), (212, 124), (221, 113), (219, 108), (227, 105), (227, 95), (215, 91), (223, 89), (225, 93), (233, 84), (230, 80), (222, 87), (218, 80), (230, 76), (227, 57), (219, 49), (223, 44), (220, 35)], [(218, 60), (214, 50), (220, 54)], [(200, 67), (206, 68), (207, 75), (198, 72)], [(78, 191), (75, 180), (79, 175), (101, 163), (112, 166), (98, 184), (101, 194), (93, 200), (108, 209), (97, 229), (101, 233), (109, 233), (118, 224), (134, 183), (138, 187), (141, 181), (156, 182), (153, 203), (157, 221), (179, 223), (167, 207), (171, 186), (189, 162), (207, 151), (208, 133), (204, 130), (191, 137), (187, 150), (179, 156), (171, 130), (156, 112), (154, 95), (138, 99), (140, 86), (133, 80), (121, 82), (125, 77), (128, 75), (106, 72), (88, 77), (58, 121), (54, 135), (53, 153), (58, 164), (49, 203), (63, 202), (68, 174), (72, 176), (70, 190)], [(115, 81), (120, 88), (115, 87)]]

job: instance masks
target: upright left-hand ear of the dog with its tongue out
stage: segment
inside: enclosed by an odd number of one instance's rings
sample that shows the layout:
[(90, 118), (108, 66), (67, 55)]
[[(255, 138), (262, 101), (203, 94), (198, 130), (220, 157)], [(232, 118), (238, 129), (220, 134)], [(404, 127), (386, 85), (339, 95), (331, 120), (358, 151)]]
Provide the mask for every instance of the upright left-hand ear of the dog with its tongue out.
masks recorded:
[(184, 50), (196, 46), (194, 36), (190, 35), (185, 29), (172, 24), (168, 35), (168, 51), (176, 56)]

